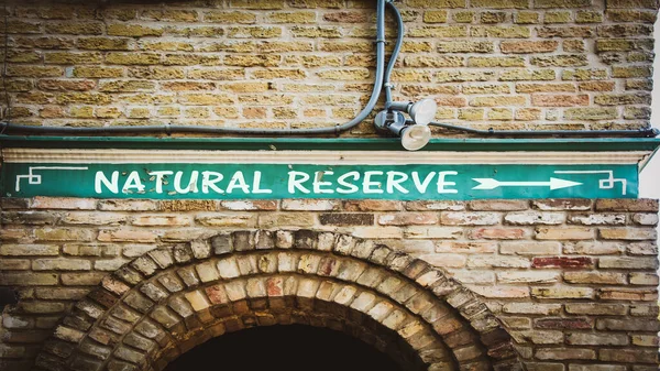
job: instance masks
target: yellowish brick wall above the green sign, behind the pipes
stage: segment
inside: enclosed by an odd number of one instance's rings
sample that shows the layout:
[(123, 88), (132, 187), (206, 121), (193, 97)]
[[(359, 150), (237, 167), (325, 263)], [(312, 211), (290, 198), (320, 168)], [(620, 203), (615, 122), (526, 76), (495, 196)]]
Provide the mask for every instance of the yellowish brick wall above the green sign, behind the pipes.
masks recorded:
[[(438, 120), (502, 129), (648, 126), (653, 0), (398, 6), (407, 39), (395, 97), (435, 98)], [(353, 118), (369, 96), (374, 7), (366, 0), (8, 0), (11, 120), (334, 126)], [(373, 132), (371, 122), (353, 134)]]

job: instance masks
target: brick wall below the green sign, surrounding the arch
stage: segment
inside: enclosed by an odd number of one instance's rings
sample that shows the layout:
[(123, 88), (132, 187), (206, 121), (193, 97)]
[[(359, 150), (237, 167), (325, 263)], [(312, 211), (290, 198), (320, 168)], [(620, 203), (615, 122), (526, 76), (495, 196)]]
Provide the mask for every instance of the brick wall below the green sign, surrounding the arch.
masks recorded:
[[(530, 370), (656, 370), (656, 200), (3, 199), (3, 370), (26, 370), (74, 303), (156, 248), (242, 229), (349, 233), (483, 295)], [(608, 368), (590, 368), (607, 364)], [(605, 365), (603, 365), (605, 367)]]

